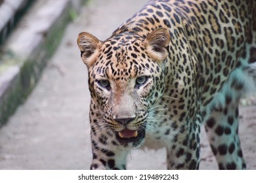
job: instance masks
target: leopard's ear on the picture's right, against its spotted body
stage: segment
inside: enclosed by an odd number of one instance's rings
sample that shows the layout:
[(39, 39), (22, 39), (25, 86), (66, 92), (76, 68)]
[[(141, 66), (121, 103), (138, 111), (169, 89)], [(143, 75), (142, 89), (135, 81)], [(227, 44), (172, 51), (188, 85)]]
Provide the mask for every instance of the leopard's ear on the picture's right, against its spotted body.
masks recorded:
[(168, 56), (167, 46), (170, 42), (170, 34), (165, 28), (152, 31), (144, 40), (143, 44), (149, 56), (156, 61), (163, 61)]

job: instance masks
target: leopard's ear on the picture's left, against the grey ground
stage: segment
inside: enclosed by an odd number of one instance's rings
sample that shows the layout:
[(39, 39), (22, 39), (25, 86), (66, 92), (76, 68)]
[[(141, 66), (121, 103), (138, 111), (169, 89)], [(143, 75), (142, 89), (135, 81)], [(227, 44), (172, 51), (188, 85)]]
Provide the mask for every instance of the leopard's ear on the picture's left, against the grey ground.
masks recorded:
[(81, 50), (81, 58), (87, 67), (91, 67), (95, 63), (98, 52), (102, 46), (102, 41), (98, 40), (90, 33), (79, 33), (77, 44)]

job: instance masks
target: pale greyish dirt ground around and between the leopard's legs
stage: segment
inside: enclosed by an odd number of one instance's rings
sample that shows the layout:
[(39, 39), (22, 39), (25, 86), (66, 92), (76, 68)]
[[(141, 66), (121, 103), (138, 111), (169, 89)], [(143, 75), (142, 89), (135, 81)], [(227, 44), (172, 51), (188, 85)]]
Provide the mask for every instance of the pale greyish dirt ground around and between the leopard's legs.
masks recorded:
[[(104, 40), (146, 1), (95, 0), (83, 8), (35, 90), (0, 129), (0, 169), (89, 169), (90, 95), (77, 34), (88, 31)], [(256, 169), (255, 103), (240, 108), (239, 132), (247, 169)], [(127, 169), (166, 169), (165, 156), (164, 150), (135, 150), (127, 157)], [(204, 133), (201, 157), (200, 169), (217, 169)]]

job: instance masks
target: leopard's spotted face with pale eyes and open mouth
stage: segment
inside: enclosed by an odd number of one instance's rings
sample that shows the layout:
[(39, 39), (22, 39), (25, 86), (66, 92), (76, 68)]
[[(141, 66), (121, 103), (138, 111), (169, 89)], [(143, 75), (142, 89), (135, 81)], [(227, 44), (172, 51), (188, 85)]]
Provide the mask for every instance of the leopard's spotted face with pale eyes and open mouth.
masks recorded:
[[(167, 34), (165, 29), (156, 31), (160, 32)], [(164, 90), (163, 68), (168, 43), (161, 39), (161, 42), (154, 40), (153, 45), (151, 37), (100, 42), (89, 36), (96, 41), (93, 51), (83, 50), (81, 42), (85, 37), (81, 35), (78, 44), (89, 71), (91, 121), (96, 120), (105, 131), (111, 129), (121, 144), (133, 142), (133, 146), (137, 146), (144, 140), (152, 106)], [(88, 44), (89, 38), (86, 40)]]

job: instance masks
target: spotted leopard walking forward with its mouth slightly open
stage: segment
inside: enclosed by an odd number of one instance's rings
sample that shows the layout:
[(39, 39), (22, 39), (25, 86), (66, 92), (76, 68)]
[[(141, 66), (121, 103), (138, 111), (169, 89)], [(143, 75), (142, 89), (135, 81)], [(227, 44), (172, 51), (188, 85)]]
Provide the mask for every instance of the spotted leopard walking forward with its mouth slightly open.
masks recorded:
[(148, 1), (105, 41), (77, 44), (88, 71), (90, 169), (126, 169), (137, 148), (199, 169), (204, 127), (219, 169), (246, 169), (239, 103), (256, 86), (256, 1)]

